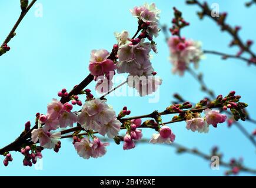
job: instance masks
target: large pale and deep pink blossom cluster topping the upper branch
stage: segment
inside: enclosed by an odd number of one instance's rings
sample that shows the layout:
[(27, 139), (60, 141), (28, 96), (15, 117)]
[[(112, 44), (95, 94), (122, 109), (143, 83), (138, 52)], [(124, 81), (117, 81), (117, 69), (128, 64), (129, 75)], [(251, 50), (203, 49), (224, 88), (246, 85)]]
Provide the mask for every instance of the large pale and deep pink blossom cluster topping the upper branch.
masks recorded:
[[(141, 96), (155, 92), (162, 83), (160, 78), (154, 77), (156, 72), (152, 68), (149, 55), (151, 50), (157, 53), (153, 37), (157, 37), (160, 31), (158, 28), (160, 11), (155, 4), (145, 4), (135, 6), (131, 13), (138, 19), (138, 32), (141, 31), (137, 38), (136, 35), (130, 38), (128, 31), (115, 32), (117, 44), (113, 46), (111, 53), (105, 49), (91, 52), (89, 71), (95, 76), (96, 90), (99, 93), (107, 92), (112, 88), (115, 71), (136, 76), (134, 82), (129, 82), (128, 85), (137, 89)], [(149, 42), (145, 42), (145, 39)], [(139, 80), (142, 76), (145, 78), (144, 81)], [(145, 85), (146, 91), (139, 89), (142, 85)]]

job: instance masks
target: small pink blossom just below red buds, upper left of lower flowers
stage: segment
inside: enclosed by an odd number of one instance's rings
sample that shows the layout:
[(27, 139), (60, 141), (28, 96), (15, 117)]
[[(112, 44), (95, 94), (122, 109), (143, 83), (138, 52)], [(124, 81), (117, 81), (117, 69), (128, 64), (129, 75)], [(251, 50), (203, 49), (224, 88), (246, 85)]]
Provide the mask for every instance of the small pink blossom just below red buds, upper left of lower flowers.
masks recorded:
[(63, 109), (63, 105), (57, 99), (52, 99), (52, 102), (47, 106), (47, 117), (55, 120), (59, 117)]

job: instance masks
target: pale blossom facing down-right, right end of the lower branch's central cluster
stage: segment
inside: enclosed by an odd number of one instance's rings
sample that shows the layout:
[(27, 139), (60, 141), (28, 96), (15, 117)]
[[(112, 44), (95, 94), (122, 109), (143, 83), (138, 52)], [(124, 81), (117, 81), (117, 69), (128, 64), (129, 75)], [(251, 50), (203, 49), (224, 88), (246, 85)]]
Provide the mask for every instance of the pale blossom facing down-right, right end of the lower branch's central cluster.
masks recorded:
[(109, 138), (114, 138), (115, 136), (118, 135), (118, 132), (120, 131), (120, 127), (121, 127), (121, 122), (119, 122), (119, 120), (115, 118), (111, 120), (111, 122), (101, 126), (98, 132), (102, 136), (105, 136), (107, 134)]

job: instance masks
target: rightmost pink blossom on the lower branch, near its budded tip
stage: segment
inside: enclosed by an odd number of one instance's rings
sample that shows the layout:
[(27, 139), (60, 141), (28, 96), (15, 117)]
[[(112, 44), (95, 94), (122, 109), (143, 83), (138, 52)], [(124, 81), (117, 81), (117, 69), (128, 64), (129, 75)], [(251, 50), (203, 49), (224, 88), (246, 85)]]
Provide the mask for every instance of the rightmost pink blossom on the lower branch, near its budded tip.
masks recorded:
[(205, 120), (209, 125), (217, 127), (218, 123), (223, 123), (227, 119), (226, 115), (222, 115), (219, 110), (204, 110)]

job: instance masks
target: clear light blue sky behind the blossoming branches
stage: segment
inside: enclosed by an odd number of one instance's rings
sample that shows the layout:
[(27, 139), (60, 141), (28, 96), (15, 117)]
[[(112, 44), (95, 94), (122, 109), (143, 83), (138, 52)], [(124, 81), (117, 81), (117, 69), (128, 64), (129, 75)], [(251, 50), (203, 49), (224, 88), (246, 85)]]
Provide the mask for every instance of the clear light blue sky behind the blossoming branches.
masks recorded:
[[(42, 18), (34, 15), (31, 9), (17, 29), (14, 39), (9, 43), (11, 51), (0, 58), (0, 147), (12, 142), (24, 129), (27, 120), (34, 121), (36, 112), (45, 113), (46, 105), (61, 88), (71, 89), (88, 75), (88, 60), (92, 49), (111, 49), (115, 43), (113, 33), (127, 29), (134, 33), (137, 20), (129, 9), (144, 1), (38, 1), (42, 3)], [(210, 19), (200, 21), (195, 14), (197, 6), (187, 6), (185, 1), (154, 1), (161, 9), (161, 23), (170, 24), (172, 6), (184, 12), (184, 18), (191, 26), (182, 31), (182, 35), (203, 42), (204, 49), (235, 53), (237, 49), (228, 48), (230, 36), (221, 33)], [(245, 1), (208, 1), (220, 4), (221, 11), (229, 13), (227, 21), (232, 25), (241, 25), (241, 36), (255, 39), (255, 6), (245, 8)], [(19, 16), (18, 1), (0, 2), (0, 41), (4, 41)], [(156, 39), (158, 54), (152, 63), (163, 79), (158, 103), (148, 103), (148, 98), (108, 98), (108, 103), (119, 110), (127, 105), (132, 115), (141, 115), (152, 110), (165, 109), (175, 92), (185, 99), (198, 101), (204, 98), (200, 85), (188, 73), (184, 77), (172, 75), (168, 62), (168, 48), (164, 36)], [(254, 51), (256, 48), (254, 46)], [(205, 82), (217, 94), (227, 94), (236, 90), (244, 102), (249, 103), (248, 110), (256, 118), (255, 73), (256, 67), (236, 60), (221, 61), (218, 56), (207, 55), (200, 63), (198, 72), (204, 72)], [(93, 89), (95, 83), (89, 88)], [(164, 120), (170, 120), (165, 117)], [(248, 131), (255, 125), (242, 123)], [(231, 157), (244, 157), (245, 165), (256, 168), (255, 147), (241, 135), (237, 127), (227, 127), (226, 123), (211, 127), (208, 134), (193, 133), (185, 129), (185, 123), (171, 125), (177, 135), (176, 142), (189, 147), (197, 147), (210, 152), (212, 146), (220, 146), (224, 160)], [(151, 137), (152, 130), (143, 130), (145, 137)], [(133, 150), (122, 150), (122, 146), (111, 143), (108, 153), (100, 159), (84, 160), (77, 155), (70, 140), (62, 140), (59, 153), (44, 150), (43, 170), (22, 166), (20, 153), (12, 152), (14, 162), (6, 168), (0, 165), (0, 175), (185, 175), (185, 176), (222, 176), (226, 170), (211, 170), (209, 162), (192, 155), (177, 155), (170, 146), (138, 145)], [(1, 158), (1, 164), (4, 157)], [(247, 173), (241, 173), (247, 175)]]

